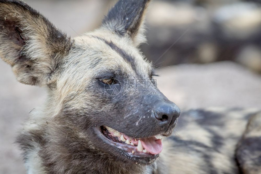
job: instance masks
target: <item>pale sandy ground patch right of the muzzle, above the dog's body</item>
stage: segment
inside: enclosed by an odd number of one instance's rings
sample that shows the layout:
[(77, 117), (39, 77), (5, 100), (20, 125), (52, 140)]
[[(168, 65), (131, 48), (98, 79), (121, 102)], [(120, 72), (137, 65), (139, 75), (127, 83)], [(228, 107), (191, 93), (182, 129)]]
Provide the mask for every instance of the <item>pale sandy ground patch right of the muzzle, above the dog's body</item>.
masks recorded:
[(261, 76), (233, 62), (177, 65), (159, 71), (158, 87), (181, 109), (261, 109)]

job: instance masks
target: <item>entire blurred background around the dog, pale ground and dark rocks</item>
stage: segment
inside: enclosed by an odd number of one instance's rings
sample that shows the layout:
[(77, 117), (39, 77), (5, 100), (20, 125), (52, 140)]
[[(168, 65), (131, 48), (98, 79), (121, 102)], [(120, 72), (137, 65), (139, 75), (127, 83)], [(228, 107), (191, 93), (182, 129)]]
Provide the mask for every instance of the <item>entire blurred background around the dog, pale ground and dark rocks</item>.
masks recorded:
[[(75, 37), (97, 28), (116, 1), (25, 2)], [(158, 88), (181, 111), (261, 108), (260, 0), (153, 0), (146, 26), (141, 50), (159, 68)], [(46, 92), (16, 82), (2, 60), (0, 73), (0, 173), (25, 174), (13, 142)]]

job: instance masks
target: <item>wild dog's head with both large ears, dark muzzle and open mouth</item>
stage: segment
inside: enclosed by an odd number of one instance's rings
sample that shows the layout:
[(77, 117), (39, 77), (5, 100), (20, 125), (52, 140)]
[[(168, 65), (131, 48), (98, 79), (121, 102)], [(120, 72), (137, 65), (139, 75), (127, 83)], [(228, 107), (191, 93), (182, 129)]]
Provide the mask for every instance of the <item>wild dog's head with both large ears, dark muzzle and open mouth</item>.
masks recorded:
[(158, 157), (155, 136), (172, 133), (180, 110), (155, 87), (155, 70), (138, 49), (148, 2), (120, 0), (100, 28), (71, 39), (24, 2), (0, 0), (0, 57), (19, 82), (49, 92), (25, 130), (40, 139), (43, 165)]

